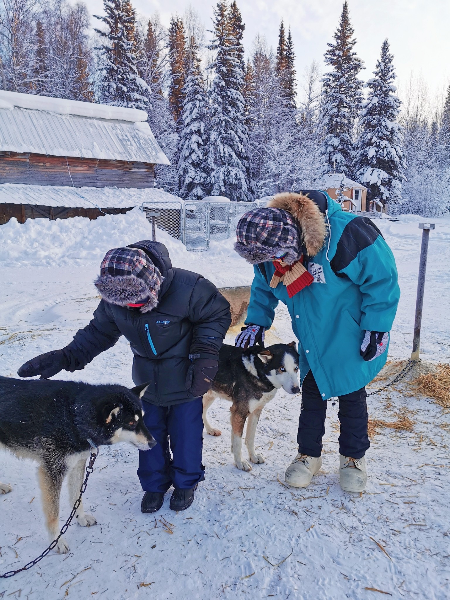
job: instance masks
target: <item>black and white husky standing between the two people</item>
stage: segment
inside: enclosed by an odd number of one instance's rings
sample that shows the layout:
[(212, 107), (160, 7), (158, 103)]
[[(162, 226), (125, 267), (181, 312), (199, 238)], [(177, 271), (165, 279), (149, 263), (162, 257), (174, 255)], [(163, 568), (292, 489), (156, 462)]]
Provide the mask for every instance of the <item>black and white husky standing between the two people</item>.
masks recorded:
[(274, 344), (263, 349), (253, 346), (247, 350), (223, 344), (219, 352), (219, 369), (212, 388), (203, 396), (203, 424), (211, 436), (220, 436), (208, 422), (206, 411), (215, 398), (232, 402), (231, 451), (235, 464), (242, 471), (251, 466), (242, 459), (242, 432), (248, 417), (245, 445), (252, 463), (263, 463), (264, 457), (254, 449), (254, 436), (263, 407), (274, 398), (278, 389), (298, 394), (298, 353), (295, 342)]

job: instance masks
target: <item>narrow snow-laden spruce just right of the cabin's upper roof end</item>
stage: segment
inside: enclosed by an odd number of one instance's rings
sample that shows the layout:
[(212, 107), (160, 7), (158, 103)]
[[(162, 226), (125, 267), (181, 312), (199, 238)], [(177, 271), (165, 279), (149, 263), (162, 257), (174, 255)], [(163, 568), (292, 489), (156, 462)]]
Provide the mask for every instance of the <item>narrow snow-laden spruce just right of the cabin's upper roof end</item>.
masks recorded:
[(191, 40), (188, 57), (191, 68), (184, 86), (184, 103), (179, 141), (179, 193), (185, 200), (202, 200), (208, 195), (205, 172), (205, 146), (208, 121), (208, 98), (205, 92), (197, 47)]

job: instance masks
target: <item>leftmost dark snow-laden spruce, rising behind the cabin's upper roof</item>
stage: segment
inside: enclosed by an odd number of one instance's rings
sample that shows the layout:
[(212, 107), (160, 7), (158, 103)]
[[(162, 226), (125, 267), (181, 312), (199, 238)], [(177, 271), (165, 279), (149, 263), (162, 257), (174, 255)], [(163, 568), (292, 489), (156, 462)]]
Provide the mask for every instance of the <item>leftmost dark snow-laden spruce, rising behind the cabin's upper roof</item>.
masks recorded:
[(95, 16), (107, 31), (95, 29), (106, 40), (100, 101), (145, 110), (151, 89), (138, 76), (134, 31), (136, 16), (129, 0), (103, 0), (104, 16)]

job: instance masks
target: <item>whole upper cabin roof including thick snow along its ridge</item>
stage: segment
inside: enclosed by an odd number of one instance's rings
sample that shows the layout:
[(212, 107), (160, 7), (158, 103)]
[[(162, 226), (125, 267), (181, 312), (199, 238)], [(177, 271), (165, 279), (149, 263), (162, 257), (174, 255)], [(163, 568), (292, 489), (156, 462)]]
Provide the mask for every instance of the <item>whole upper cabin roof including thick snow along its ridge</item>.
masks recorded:
[(170, 164), (143, 110), (0, 91), (0, 151)]

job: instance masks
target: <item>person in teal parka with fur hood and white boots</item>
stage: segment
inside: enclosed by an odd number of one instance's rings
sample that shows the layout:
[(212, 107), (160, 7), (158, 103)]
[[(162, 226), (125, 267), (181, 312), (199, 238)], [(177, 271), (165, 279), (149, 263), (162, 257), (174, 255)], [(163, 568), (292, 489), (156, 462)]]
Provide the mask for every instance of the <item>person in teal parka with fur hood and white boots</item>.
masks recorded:
[(250, 305), (236, 346), (264, 344), (278, 302), (298, 338), (302, 407), (298, 455), (286, 482), (306, 487), (322, 466), (326, 400), (338, 397), (340, 484), (367, 482), (365, 385), (386, 362), (400, 299), (395, 259), (367, 217), (325, 191), (277, 194), (239, 220), (235, 250), (254, 265)]

